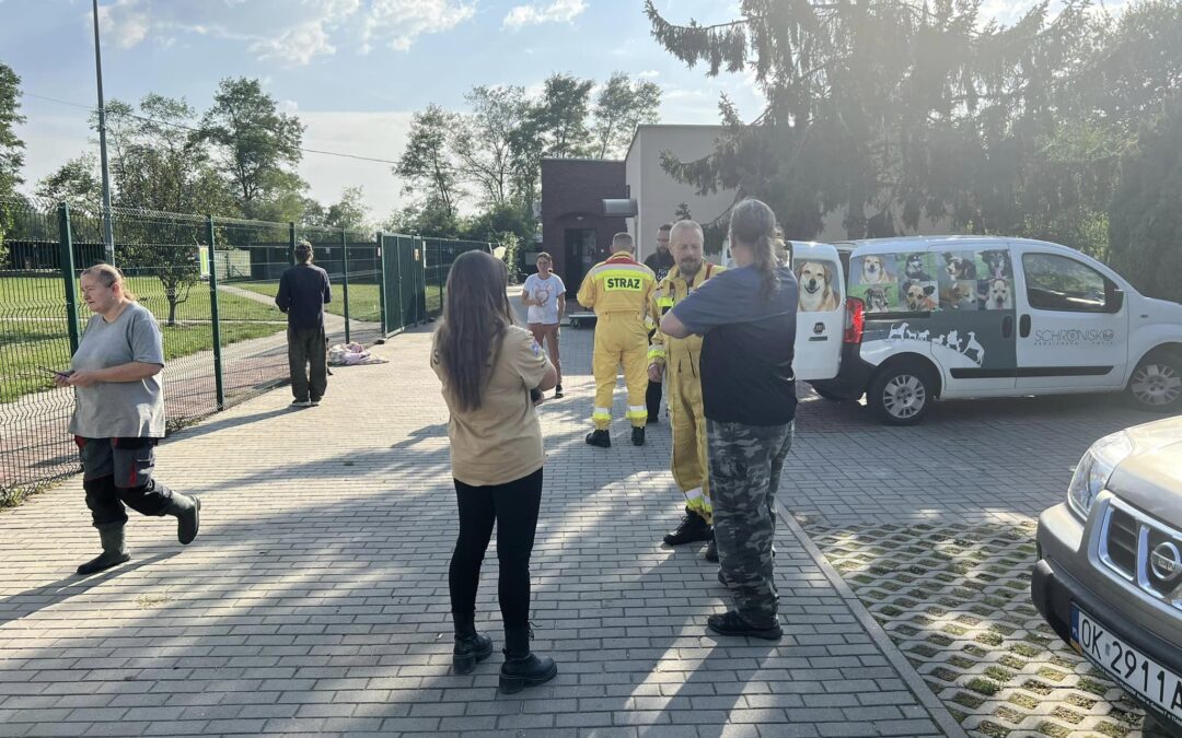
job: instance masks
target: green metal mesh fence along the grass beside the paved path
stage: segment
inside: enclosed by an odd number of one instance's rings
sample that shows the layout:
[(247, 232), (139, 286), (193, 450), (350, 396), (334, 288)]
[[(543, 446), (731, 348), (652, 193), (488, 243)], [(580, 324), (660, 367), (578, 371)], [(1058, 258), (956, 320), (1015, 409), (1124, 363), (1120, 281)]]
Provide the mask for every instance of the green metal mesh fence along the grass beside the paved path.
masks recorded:
[[(330, 344), (372, 344), (437, 315), (450, 261), (489, 249), (143, 210), (116, 209), (112, 224), (115, 263), (164, 337), (170, 432), (287, 381), (286, 318), (274, 295), (298, 240), (312, 243), (316, 263), (329, 272)], [(15, 490), (78, 469), (66, 433), (73, 393), (56, 388), (46, 370), (70, 364), (90, 318), (78, 274), (104, 261), (105, 248), (97, 213), (35, 201), (0, 201), (0, 233), (2, 504)]]

